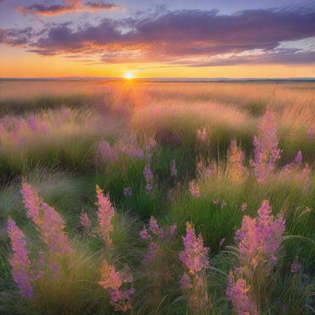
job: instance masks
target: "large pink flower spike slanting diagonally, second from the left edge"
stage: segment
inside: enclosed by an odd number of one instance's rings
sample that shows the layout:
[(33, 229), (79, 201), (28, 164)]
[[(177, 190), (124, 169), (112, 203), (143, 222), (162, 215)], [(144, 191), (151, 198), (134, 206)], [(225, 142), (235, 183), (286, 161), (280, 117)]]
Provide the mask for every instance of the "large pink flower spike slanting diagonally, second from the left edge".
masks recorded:
[(23, 203), (27, 208), (27, 215), (35, 224), (41, 234), (42, 241), (48, 246), (54, 256), (62, 257), (72, 252), (72, 247), (64, 232), (63, 217), (38, 196), (32, 185), (22, 183), (21, 193)]

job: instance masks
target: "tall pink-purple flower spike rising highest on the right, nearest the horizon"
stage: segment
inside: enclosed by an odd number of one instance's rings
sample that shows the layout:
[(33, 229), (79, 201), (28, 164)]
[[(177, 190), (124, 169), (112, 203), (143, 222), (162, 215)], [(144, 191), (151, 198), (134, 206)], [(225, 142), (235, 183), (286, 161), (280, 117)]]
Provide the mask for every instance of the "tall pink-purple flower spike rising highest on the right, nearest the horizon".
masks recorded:
[(258, 126), (258, 136), (254, 135), (254, 174), (258, 182), (266, 180), (268, 174), (275, 168), (277, 159), (282, 152), (278, 149), (279, 138), (270, 112), (266, 112)]

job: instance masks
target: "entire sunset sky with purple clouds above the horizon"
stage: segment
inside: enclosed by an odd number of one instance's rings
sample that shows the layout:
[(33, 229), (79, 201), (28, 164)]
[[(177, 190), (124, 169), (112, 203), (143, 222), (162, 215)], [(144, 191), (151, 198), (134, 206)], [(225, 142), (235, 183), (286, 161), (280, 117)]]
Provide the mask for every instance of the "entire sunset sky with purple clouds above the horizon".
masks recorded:
[(0, 77), (315, 77), (315, 0), (0, 0)]

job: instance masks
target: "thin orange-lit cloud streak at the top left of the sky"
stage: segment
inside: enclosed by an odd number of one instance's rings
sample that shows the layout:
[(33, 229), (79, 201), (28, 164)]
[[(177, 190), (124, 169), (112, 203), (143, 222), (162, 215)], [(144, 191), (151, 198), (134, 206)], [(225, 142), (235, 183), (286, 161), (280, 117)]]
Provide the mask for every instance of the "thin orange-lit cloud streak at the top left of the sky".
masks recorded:
[(69, 12), (80, 11), (101, 11), (101, 10), (116, 10), (120, 8), (120, 5), (112, 3), (104, 3), (103, 1), (88, 2), (86, 5), (82, 5), (80, 0), (65, 0), (63, 5), (51, 5), (45, 6), (43, 4), (33, 4), (31, 6), (17, 5), (15, 8), (22, 12), (24, 15), (60, 15)]

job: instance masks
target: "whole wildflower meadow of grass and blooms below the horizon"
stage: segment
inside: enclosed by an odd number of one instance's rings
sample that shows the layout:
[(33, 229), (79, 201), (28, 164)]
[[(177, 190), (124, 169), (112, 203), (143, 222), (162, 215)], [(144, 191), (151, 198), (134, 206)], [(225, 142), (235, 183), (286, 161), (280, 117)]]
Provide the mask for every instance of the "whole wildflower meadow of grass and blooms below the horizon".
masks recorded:
[(315, 83), (0, 81), (0, 314), (315, 314)]

